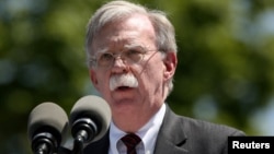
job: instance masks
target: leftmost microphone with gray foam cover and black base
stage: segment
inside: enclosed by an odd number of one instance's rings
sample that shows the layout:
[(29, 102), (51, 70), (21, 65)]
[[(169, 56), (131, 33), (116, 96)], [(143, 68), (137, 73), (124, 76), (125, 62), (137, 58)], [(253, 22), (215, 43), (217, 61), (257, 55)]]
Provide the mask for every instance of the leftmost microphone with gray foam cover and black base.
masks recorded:
[(58, 105), (42, 103), (31, 111), (27, 134), (33, 153), (57, 153), (67, 131), (68, 116)]

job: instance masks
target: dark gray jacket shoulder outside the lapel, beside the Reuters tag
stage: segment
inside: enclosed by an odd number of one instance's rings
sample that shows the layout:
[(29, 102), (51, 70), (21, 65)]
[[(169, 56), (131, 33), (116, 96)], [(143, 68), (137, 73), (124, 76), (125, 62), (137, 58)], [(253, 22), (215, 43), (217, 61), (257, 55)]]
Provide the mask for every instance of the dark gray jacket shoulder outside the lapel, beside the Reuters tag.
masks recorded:
[(186, 135), (185, 146), (194, 153), (227, 153), (228, 137), (246, 135), (236, 128), (179, 116)]

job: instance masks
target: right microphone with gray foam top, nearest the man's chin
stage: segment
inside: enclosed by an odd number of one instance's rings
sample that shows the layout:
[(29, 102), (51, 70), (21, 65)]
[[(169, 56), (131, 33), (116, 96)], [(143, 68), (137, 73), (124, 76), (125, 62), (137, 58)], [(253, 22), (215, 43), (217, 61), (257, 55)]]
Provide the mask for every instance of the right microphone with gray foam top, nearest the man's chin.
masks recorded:
[(111, 108), (101, 97), (88, 95), (81, 97), (72, 107), (69, 117), (71, 134), (75, 138), (75, 146), (80, 143), (91, 143), (100, 140), (106, 133), (111, 121)]

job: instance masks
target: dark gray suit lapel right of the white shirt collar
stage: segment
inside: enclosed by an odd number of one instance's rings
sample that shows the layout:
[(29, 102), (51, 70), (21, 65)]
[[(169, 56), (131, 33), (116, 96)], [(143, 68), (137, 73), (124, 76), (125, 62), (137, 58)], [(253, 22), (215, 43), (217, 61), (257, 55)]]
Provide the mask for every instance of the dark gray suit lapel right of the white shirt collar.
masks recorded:
[(167, 105), (163, 123), (156, 141), (155, 154), (187, 154), (187, 150), (183, 146), (185, 142), (182, 121)]

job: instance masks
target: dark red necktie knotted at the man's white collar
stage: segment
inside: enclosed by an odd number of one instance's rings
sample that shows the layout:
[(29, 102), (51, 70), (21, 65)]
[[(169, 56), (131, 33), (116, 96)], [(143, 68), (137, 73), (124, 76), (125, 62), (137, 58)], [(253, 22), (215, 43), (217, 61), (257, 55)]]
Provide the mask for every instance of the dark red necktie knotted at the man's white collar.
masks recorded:
[(135, 147), (141, 141), (140, 138), (136, 135), (135, 133), (128, 133), (124, 135), (121, 140), (126, 145), (128, 154), (132, 154), (132, 153), (135, 154), (136, 153)]

